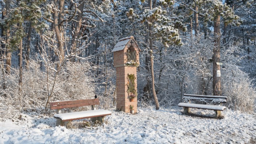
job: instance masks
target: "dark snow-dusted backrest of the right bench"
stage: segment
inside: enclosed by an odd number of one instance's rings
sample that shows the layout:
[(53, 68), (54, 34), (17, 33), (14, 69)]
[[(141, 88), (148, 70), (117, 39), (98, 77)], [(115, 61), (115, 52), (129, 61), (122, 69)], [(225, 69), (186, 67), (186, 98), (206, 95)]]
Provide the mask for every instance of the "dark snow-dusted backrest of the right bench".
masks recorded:
[(204, 101), (206, 103), (226, 103), (227, 97), (184, 94), (183, 100), (185, 100), (185, 101), (189, 101), (189, 100)]

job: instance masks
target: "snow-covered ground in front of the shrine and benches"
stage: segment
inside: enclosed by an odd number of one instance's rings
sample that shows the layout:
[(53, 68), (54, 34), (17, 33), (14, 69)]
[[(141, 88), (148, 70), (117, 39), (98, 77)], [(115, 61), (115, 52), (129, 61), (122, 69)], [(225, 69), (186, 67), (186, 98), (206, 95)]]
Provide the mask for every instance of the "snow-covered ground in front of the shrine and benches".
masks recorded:
[[(37, 143), (255, 143), (256, 115), (225, 110), (224, 119), (182, 115), (181, 108), (139, 109), (138, 114), (112, 111), (107, 123), (87, 126), (73, 122), (73, 129), (54, 127), (55, 118), (22, 114), (21, 120), (0, 122), (0, 144)], [(192, 109), (198, 115), (214, 111)]]

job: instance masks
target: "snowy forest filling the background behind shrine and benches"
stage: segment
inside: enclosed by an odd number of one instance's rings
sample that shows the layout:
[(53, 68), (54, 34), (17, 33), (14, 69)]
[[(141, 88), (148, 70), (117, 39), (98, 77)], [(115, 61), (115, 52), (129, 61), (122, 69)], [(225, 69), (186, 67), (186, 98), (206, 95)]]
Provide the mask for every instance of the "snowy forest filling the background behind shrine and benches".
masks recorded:
[(187, 93), (255, 112), (255, 0), (1, 0), (0, 8), (1, 119), (94, 95), (114, 108), (111, 50), (129, 36), (141, 49), (139, 107), (172, 107)]

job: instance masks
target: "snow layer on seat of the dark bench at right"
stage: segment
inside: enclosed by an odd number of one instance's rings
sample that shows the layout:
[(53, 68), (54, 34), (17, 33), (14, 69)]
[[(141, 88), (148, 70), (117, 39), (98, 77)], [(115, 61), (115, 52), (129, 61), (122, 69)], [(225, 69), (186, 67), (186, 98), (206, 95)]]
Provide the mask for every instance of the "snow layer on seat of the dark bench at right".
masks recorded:
[(189, 108), (208, 109), (208, 110), (217, 110), (217, 111), (223, 111), (226, 108), (225, 106), (183, 103), (183, 102), (179, 103), (178, 106), (189, 107)]

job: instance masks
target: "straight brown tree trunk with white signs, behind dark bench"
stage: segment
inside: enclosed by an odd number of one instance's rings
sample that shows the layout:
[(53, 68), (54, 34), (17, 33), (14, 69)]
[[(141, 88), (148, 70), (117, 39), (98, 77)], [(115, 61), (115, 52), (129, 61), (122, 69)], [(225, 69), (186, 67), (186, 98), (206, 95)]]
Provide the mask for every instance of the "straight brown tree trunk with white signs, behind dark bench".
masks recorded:
[[(214, 18), (214, 48), (213, 48), (213, 95), (221, 95), (221, 66), (220, 63), (220, 51), (221, 51), (221, 39), (220, 39), (220, 14)], [(217, 74), (218, 73), (218, 74)]]

